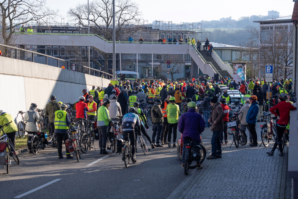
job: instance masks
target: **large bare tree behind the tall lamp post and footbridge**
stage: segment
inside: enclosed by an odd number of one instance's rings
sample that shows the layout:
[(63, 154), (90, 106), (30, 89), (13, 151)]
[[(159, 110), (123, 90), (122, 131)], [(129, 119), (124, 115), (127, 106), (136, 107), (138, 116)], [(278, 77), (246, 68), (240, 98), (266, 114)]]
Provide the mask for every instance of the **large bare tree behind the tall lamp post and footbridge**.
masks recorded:
[[(89, 21), (91, 32), (102, 36), (104, 39), (112, 40), (113, 12), (111, 0), (94, 0), (89, 4)], [(79, 20), (79, 24), (88, 27), (88, 5), (79, 4), (68, 11), (68, 15)], [(140, 15), (138, 5), (130, 0), (115, 0), (115, 39), (125, 40), (129, 35), (138, 31), (141, 27), (138, 17)], [(108, 53), (103, 53), (103, 71), (108, 72)]]

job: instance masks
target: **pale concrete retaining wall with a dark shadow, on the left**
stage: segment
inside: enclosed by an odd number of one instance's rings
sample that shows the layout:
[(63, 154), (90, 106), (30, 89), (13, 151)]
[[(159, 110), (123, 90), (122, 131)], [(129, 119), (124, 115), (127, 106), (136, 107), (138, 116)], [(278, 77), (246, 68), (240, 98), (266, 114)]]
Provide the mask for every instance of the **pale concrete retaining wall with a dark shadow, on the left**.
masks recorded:
[(14, 118), (31, 103), (45, 108), (55, 95), (63, 103), (77, 102), (82, 90), (108, 86), (110, 80), (39, 63), (0, 57), (0, 110)]

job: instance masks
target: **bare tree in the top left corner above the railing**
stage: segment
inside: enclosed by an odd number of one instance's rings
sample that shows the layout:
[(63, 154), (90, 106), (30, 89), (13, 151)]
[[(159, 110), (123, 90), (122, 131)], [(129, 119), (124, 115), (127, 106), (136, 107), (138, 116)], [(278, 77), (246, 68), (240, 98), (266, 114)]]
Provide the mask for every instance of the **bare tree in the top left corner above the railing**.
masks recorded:
[[(14, 28), (32, 22), (46, 23), (47, 18), (55, 20), (57, 11), (46, 7), (46, 0), (2, 0), (0, 2), (0, 42), (13, 44)], [(6, 49), (4, 49), (4, 56)]]

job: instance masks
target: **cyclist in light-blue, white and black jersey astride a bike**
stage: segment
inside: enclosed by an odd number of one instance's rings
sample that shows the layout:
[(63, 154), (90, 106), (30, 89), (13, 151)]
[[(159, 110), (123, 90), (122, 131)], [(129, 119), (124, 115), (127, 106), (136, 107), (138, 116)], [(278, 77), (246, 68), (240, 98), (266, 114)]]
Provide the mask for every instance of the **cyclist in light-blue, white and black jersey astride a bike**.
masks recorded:
[[(138, 128), (138, 132), (141, 130), (141, 122), (140, 118), (137, 114), (136, 108), (135, 107), (130, 107), (129, 108), (129, 113), (125, 114), (123, 116), (123, 121), (122, 121), (122, 132), (123, 132), (123, 138), (127, 141), (128, 137), (130, 139), (131, 143), (131, 154), (133, 157), (133, 162), (136, 162), (136, 155), (135, 155), (135, 127)], [(138, 133), (136, 132), (136, 133)]]

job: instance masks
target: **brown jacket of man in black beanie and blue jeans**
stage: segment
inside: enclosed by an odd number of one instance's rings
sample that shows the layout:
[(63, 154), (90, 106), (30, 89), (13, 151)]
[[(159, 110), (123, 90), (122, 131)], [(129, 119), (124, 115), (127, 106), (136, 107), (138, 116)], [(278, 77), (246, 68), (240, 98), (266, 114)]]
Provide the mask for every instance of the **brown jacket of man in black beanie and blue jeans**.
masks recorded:
[[(212, 106), (212, 112), (209, 117), (209, 119), (211, 119), (210, 131), (222, 131), (224, 129), (224, 116), (225, 113), (221, 107), (221, 104), (216, 102), (216, 104)], [(216, 122), (216, 124), (214, 122)]]

